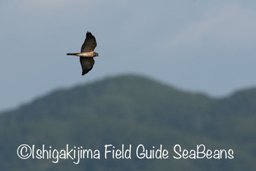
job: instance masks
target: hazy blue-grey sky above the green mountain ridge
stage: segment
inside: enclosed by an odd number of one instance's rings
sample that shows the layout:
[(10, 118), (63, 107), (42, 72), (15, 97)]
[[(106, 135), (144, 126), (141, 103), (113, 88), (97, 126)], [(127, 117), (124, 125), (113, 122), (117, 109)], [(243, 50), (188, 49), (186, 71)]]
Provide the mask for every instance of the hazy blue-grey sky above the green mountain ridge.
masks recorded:
[[(135, 73), (211, 96), (256, 86), (256, 1), (1, 0), (0, 111)], [(86, 31), (99, 58), (81, 75)]]

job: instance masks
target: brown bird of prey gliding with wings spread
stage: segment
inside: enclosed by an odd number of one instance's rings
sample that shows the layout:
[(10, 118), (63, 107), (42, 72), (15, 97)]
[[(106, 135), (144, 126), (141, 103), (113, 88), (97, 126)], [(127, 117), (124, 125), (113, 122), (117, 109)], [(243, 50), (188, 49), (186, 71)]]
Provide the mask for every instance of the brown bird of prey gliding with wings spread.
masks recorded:
[(81, 53), (67, 53), (67, 56), (80, 56), (80, 64), (82, 66), (82, 75), (91, 71), (94, 66), (94, 57), (99, 56), (99, 53), (94, 52), (97, 42), (91, 32), (87, 31), (86, 40), (84, 41)]

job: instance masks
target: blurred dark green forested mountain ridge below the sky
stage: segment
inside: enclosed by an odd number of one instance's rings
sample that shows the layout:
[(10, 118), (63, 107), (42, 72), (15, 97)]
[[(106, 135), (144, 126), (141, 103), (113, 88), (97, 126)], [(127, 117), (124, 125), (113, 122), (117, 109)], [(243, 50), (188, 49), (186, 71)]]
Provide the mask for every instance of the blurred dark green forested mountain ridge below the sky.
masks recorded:
[[(1, 113), (0, 170), (256, 170), (255, 123), (256, 88), (214, 99), (147, 77), (108, 77)], [(36, 159), (20, 159), (22, 144), (35, 145), (34, 151), (45, 145), (52, 158), (37, 159), (38, 152)], [(57, 151), (67, 144), (77, 152), (80, 146), (99, 150), (100, 159), (81, 159), (79, 164), (59, 159), (54, 164)], [(110, 153), (104, 159), (106, 144), (115, 150), (132, 145), (132, 159), (110, 159)], [(155, 151), (162, 145), (169, 157), (138, 159), (140, 144)], [(234, 159), (174, 159), (176, 144), (189, 152), (200, 144), (211, 151), (232, 149)]]

